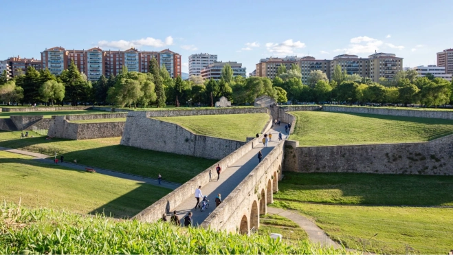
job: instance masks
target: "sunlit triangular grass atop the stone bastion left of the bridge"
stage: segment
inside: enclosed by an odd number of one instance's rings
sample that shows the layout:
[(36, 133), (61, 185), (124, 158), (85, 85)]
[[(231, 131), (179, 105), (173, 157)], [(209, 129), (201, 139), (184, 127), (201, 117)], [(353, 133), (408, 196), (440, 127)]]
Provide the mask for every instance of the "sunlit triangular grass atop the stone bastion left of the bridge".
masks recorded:
[(193, 133), (230, 140), (245, 141), (261, 133), (269, 115), (266, 113), (197, 115), (184, 117), (159, 117), (157, 120), (173, 122)]

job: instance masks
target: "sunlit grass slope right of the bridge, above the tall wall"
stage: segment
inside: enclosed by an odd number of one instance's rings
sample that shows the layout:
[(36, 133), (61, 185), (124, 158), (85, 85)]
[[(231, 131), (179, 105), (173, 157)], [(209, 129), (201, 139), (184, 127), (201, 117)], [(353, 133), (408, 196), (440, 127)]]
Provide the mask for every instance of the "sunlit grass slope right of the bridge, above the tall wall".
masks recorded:
[(294, 111), (300, 146), (426, 142), (453, 133), (453, 120)]

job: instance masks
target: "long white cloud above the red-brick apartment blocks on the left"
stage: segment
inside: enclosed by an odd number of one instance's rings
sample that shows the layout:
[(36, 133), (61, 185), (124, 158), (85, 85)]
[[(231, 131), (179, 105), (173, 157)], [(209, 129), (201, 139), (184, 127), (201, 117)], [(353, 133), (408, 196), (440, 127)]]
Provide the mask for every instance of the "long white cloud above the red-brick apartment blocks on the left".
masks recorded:
[(129, 49), (131, 47), (151, 46), (151, 47), (164, 47), (173, 45), (173, 37), (168, 36), (165, 41), (155, 39), (153, 37), (141, 38), (133, 41), (98, 41), (99, 47), (114, 48), (114, 49)]

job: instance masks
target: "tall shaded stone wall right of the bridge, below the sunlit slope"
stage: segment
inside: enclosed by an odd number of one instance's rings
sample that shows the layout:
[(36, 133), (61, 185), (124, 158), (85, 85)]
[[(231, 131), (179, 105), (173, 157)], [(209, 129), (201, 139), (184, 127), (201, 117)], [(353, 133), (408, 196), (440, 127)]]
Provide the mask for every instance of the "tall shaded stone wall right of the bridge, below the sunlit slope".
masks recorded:
[(430, 142), (298, 147), (285, 144), (285, 170), (300, 173), (453, 175), (453, 135)]

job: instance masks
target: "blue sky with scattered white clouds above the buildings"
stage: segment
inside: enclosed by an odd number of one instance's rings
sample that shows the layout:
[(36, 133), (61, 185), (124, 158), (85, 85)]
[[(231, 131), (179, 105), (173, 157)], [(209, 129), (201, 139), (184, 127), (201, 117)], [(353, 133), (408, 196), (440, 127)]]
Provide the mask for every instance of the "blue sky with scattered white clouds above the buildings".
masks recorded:
[(255, 69), (270, 56), (377, 52), (404, 67), (435, 65), (453, 47), (453, 1), (16, 1), (0, 0), (0, 59), (40, 58), (46, 48), (170, 49), (217, 54)]

